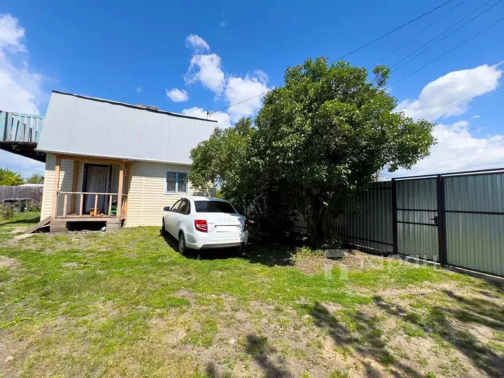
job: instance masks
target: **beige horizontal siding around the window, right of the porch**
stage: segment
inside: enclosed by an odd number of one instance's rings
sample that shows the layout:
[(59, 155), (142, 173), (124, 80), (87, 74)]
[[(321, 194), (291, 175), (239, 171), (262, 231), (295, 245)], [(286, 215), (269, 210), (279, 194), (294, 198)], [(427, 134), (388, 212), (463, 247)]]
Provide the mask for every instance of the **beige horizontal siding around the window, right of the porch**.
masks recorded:
[[(166, 171), (187, 172), (188, 167), (176, 164), (132, 162), (130, 192), (128, 195), (128, 216), (126, 225), (161, 226), (163, 207), (172, 206), (185, 193), (165, 193)], [(195, 193), (189, 185), (188, 194)]]

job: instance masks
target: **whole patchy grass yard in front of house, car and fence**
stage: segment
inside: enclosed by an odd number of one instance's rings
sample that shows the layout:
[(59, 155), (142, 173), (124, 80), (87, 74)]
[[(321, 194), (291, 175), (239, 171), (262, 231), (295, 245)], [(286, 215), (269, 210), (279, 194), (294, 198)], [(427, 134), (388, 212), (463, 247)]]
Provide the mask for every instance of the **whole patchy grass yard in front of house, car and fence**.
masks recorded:
[[(180, 256), (156, 227), (0, 223), (0, 377), (504, 376), (504, 291), (353, 251)], [(14, 231), (14, 232), (13, 232)]]

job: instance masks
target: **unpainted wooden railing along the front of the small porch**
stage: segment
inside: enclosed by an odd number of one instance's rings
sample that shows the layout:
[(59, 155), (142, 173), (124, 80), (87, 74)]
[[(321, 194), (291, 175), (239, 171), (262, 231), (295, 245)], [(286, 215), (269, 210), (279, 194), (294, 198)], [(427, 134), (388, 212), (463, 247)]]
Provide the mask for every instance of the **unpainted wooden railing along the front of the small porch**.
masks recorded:
[[(87, 214), (83, 214), (83, 209), (84, 209), (84, 196), (94, 196), (94, 211), (93, 211), (93, 217), (97, 217), (98, 214), (98, 196), (105, 196), (105, 198), (108, 197), (108, 211), (105, 217), (117, 217), (121, 218), (122, 216), (125, 216), (128, 211), (128, 195), (123, 194), (121, 195), (121, 201), (120, 201), (120, 206), (116, 207), (116, 214), (112, 214), (112, 200), (113, 198), (117, 198), (119, 196), (118, 193), (95, 193), (95, 192), (61, 192), (58, 191), (57, 195), (59, 198), (59, 195), (63, 195), (63, 214), (60, 216), (62, 218), (67, 218), (67, 217), (89, 217)], [(69, 195), (71, 196), (71, 210), (70, 214), (68, 213), (68, 197)], [(74, 196), (80, 196), (79, 200), (79, 214), (74, 214)], [(119, 205), (119, 202), (117, 201), (117, 205)], [(59, 218), (59, 217), (58, 217)]]

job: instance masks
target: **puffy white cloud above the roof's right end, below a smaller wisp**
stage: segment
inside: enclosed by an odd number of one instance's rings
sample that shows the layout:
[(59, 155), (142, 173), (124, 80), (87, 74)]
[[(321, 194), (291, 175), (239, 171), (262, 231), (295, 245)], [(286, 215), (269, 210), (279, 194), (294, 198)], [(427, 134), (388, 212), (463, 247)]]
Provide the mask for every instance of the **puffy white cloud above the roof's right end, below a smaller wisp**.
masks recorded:
[(225, 75), (222, 71), (221, 58), (217, 54), (196, 54), (191, 58), (184, 80), (186, 84), (200, 81), (202, 85), (217, 95), (222, 93)]

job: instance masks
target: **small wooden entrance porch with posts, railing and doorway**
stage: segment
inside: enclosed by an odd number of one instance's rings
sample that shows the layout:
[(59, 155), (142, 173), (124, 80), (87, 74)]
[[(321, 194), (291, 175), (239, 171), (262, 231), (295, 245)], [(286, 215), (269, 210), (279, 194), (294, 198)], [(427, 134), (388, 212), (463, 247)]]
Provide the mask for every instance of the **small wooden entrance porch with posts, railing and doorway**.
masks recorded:
[(79, 229), (88, 222), (107, 230), (122, 227), (128, 214), (130, 164), (126, 160), (56, 155), (53, 182), (58, 184), (53, 186), (50, 231)]

